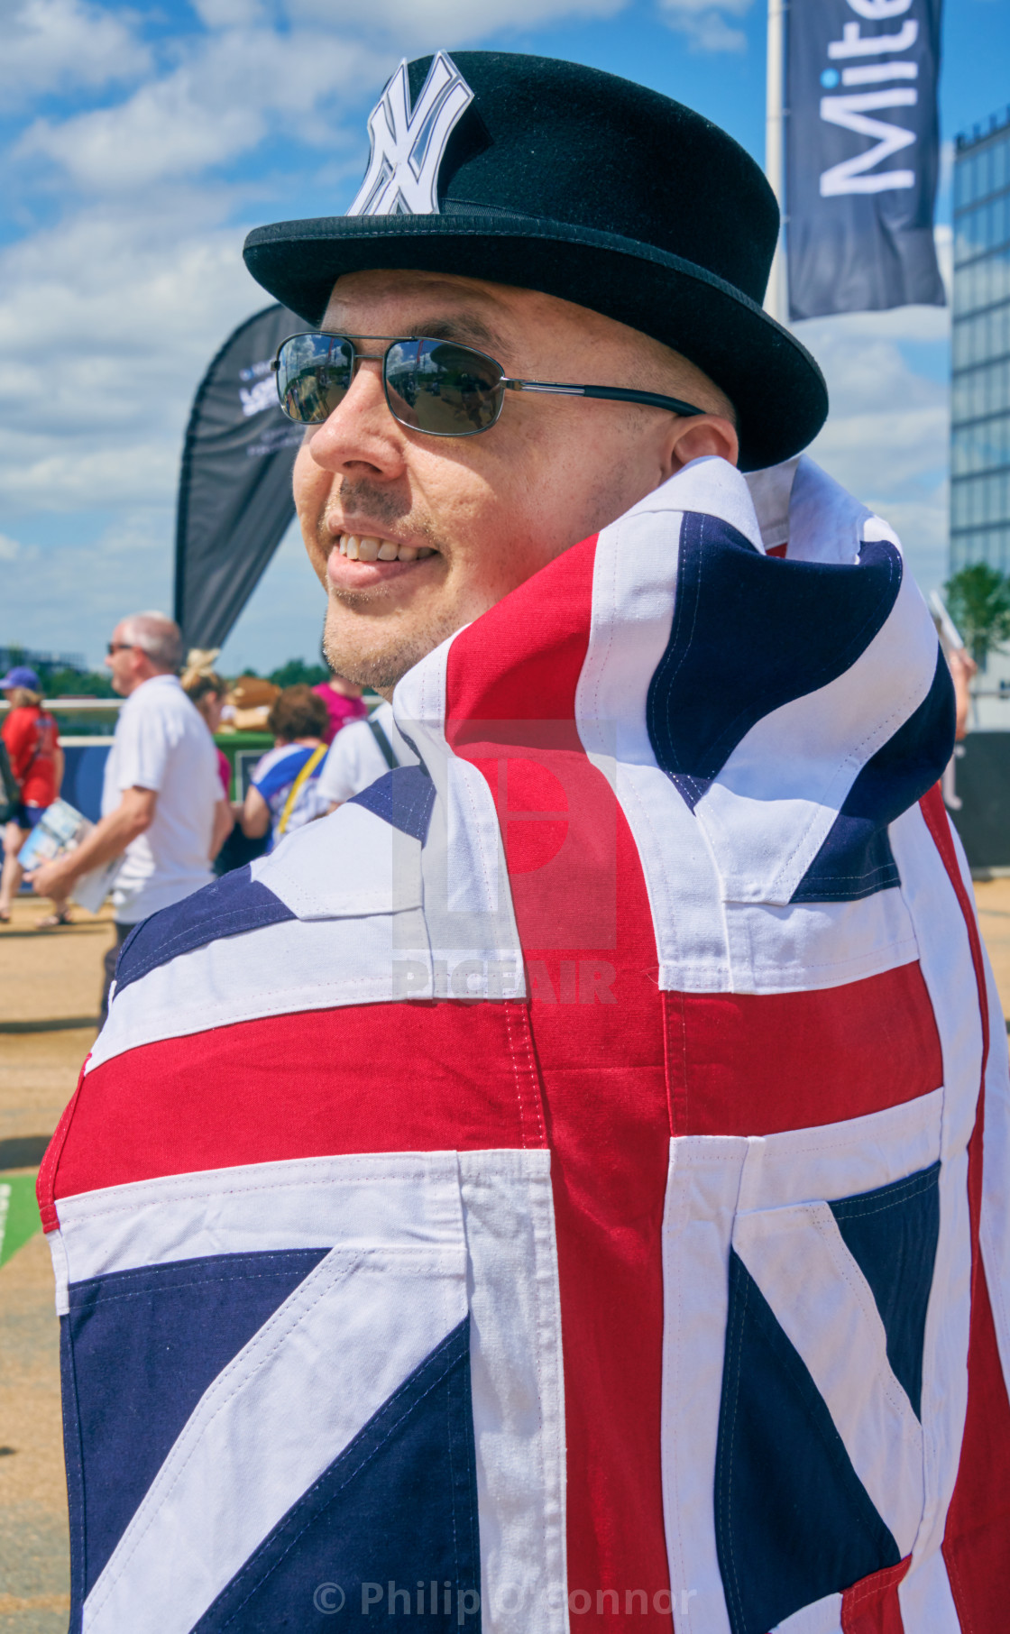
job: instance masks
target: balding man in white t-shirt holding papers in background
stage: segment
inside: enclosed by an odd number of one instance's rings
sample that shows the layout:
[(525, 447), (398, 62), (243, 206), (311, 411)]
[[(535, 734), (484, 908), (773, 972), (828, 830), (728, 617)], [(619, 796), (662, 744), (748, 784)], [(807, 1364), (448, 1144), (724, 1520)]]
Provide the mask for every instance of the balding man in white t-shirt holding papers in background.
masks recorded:
[(127, 701), (105, 766), (101, 822), (75, 851), (31, 876), (39, 895), (67, 895), (83, 874), (123, 856), (113, 887), (116, 946), (105, 961), (103, 1015), (119, 944), (149, 913), (211, 882), (211, 859), (232, 824), (214, 740), (175, 673), (181, 662), (178, 624), (162, 613), (123, 619), (105, 662)]

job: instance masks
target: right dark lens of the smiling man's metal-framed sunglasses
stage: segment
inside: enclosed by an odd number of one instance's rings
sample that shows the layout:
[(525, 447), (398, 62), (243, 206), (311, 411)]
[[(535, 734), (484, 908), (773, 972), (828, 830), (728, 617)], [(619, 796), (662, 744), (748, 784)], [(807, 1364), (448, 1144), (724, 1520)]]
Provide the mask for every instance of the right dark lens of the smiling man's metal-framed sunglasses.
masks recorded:
[(448, 340), (399, 340), (386, 356), (386, 395), (402, 425), (431, 436), (487, 431), (502, 412), (502, 366)]

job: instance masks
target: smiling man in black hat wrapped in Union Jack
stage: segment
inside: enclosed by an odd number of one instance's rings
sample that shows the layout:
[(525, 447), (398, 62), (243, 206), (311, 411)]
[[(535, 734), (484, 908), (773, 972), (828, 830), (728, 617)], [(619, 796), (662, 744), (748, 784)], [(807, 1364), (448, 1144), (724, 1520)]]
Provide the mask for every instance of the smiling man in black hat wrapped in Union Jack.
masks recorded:
[(1007, 1052), (951, 685), (798, 458), (771, 194), (534, 57), (405, 64), (369, 129), (351, 211), (245, 253), (306, 325), (327, 655), (420, 765), (119, 961), (39, 1188), (75, 1606), (995, 1634)]

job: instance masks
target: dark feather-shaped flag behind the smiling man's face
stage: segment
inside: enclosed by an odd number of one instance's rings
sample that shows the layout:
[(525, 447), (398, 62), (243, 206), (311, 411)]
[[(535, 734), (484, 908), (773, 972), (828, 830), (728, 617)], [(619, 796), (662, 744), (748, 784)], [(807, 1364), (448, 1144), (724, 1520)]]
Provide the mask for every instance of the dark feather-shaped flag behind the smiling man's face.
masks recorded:
[(175, 529), (175, 618), (191, 647), (221, 647), (294, 516), (302, 440), (281, 413), (271, 359), (304, 322), (266, 307), (229, 335), (190, 412)]

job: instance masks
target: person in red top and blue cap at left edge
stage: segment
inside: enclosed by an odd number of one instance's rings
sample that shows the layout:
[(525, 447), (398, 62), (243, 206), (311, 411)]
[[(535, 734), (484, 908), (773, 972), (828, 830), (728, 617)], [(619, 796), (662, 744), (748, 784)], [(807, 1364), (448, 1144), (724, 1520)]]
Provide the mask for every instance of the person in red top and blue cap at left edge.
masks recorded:
[[(56, 721), (42, 709), (39, 678), (28, 665), (18, 663), (0, 680), (0, 691), (10, 711), (0, 725), (20, 799), (3, 830), (3, 873), (0, 874), (0, 923), (8, 923), (10, 905), (21, 884), (23, 868), (18, 851), (47, 806), (52, 806), (64, 781), (64, 752), (59, 747)], [(52, 913), (39, 926), (69, 925), (65, 900), (52, 904)]]

